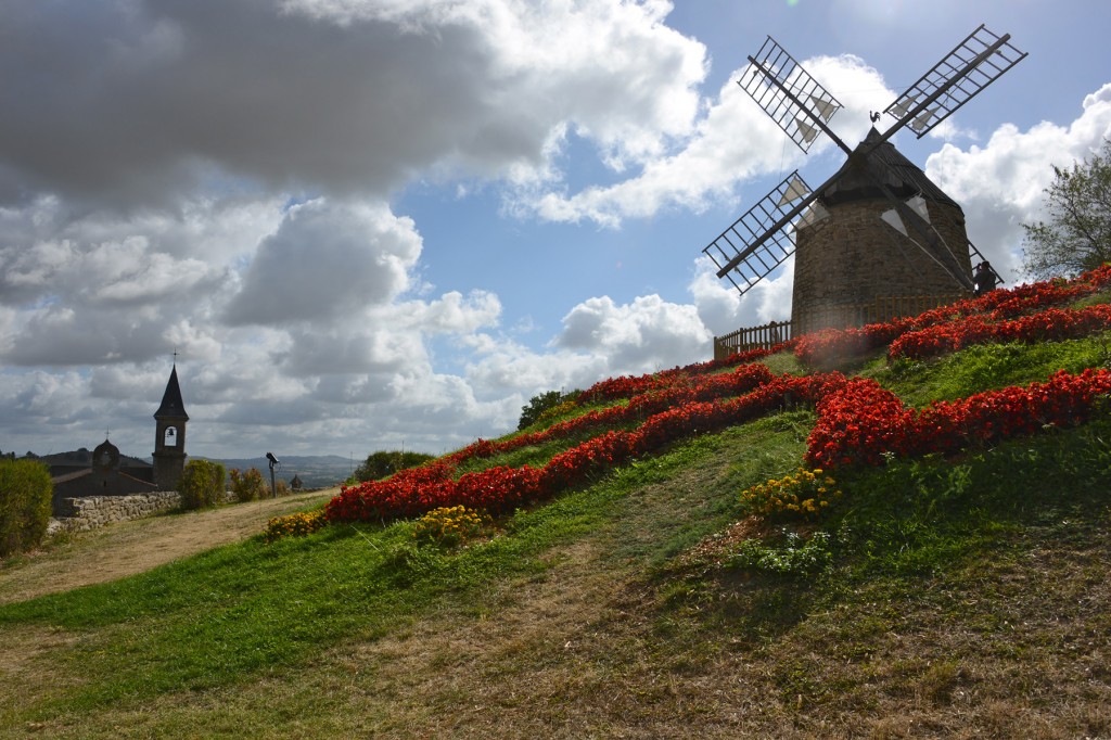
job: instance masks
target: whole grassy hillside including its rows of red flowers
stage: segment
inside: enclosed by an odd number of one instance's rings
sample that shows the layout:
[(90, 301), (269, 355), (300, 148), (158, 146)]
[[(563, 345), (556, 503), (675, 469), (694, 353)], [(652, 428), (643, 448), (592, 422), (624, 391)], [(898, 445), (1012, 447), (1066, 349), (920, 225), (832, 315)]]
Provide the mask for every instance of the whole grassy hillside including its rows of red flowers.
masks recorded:
[[(1108, 277), (613, 379), (2, 606), (0, 737), (1109, 737)], [(476, 500), (463, 547), (391, 516)]]

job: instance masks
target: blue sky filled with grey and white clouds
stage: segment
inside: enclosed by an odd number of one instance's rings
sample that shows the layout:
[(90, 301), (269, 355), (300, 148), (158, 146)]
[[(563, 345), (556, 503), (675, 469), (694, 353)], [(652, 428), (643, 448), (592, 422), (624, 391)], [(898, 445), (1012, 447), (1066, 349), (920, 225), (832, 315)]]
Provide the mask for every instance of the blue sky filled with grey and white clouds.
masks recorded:
[[(803, 154), (735, 83), (772, 36), (845, 141), (980, 23), (1029, 57), (894, 144), (1008, 284), (1111, 137), (1105, 0), (0, 0), (0, 450), (441, 453), (549, 390), (788, 318), (702, 248)], [(890, 121), (881, 122), (887, 127)]]

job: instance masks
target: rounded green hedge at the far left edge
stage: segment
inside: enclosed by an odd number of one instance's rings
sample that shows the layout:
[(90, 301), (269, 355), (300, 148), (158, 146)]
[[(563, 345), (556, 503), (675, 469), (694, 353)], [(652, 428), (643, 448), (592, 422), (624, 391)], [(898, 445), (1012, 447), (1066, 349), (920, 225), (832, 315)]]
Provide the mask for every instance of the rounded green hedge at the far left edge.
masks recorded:
[(53, 486), (34, 460), (0, 460), (0, 557), (30, 550), (50, 523)]

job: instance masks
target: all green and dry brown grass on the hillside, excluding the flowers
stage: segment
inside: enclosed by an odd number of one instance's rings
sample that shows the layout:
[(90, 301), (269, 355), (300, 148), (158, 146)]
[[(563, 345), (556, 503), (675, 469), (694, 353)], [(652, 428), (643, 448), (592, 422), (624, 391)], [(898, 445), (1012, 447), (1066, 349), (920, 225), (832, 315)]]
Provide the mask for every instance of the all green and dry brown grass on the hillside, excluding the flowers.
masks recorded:
[[(1105, 342), (979, 347), (890, 367), (877, 354), (859, 369), (924, 406), (1098, 366)], [(790, 354), (768, 364), (800, 371)], [(1037, 737), (1111, 733), (1100, 709), (1111, 674), (1093, 658), (1111, 649), (1102, 586), (1111, 419), (957, 459), (839, 471), (844, 494), (818, 526), (775, 522), (730, 543), (721, 564), (690, 559), (743, 523), (743, 489), (801, 464), (813, 422), (795, 410), (675, 444), (506, 517), (497, 537), (459, 550), (418, 547), (411, 522), (342, 526), (0, 606), (0, 639), (44, 646), (27, 659), (38, 680), (24, 687), (0, 670), (10, 700), (0, 728), (114, 737), (123, 718), (141, 714), (130, 737), (237, 737), (244, 727), (280, 737), (451, 734), (443, 717), (496, 683), (509, 693), (494, 723), (473, 727), (510, 737), (552, 727), (733, 737), (735, 727), (718, 723), (732, 711), (714, 703), (721, 697), (759, 697), (744, 727), (771, 737), (823, 736), (823, 727), (898, 736), (885, 722), (907, 712), (934, 734), (1008, 736), (1034, 728), (1035, 710), (1063, 728)], [(539, 466), (574, 443), (468, 469)], [(617, 587), (598, 586), (608, 582)], [(527, 622), (499, 632), (520, 588), (587, 593), (583, 621), (561, 617), (573, 629), (554, 647), (520, 637)], [(532, 640), (562, 629), (537, 619)], [(452, 640), (461, 638), (437, 642), (468, 630), (481, 650), (460, 652)], [(391, 641), (421, 648), (410, 636), (439, 647), (403, 677), (348, 657)], [(260, 694), (276, 684), (291, 688), (283, 706), (267, 707)], [(337, 686), (361, 687), (356, 713)], [(230, 708), (211, 706), (216, 696)], [(958, 711), (968, 696), (998, 711)], [(647, 714), (651, 706), (671, 719)]]

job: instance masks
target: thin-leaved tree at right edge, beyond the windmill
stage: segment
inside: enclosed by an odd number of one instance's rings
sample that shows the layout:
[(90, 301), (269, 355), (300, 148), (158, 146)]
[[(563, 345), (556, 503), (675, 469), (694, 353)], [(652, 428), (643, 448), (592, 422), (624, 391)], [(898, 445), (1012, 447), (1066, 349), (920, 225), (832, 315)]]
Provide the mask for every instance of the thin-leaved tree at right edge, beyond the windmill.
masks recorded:
[(1048, 221), (1023, 223), (1023, 258), (1034, 278), (1072, 276), (1111, 261), (1111, 140), (1072, 169), (1053, 166)]

